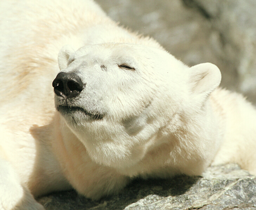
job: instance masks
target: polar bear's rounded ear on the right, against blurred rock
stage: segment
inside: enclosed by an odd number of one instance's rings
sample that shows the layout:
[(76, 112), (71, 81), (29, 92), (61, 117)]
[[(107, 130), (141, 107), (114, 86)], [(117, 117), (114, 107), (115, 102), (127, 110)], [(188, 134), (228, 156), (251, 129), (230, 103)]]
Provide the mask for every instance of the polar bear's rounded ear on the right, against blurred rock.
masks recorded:
[(204, 99), (219, 86), (221, 73), (212, 63), (201, 63), (190, 68), (191, 91)]

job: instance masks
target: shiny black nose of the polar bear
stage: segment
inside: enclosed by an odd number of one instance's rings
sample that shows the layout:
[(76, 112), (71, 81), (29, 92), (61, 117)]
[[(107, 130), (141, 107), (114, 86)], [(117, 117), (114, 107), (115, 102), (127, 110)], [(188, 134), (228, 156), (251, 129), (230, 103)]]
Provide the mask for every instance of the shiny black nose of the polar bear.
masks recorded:
[(58, 73), (52, 86), (56, 95), (61, 97), (76, 97), (84, 88), (82, 80), (75, 73)]

